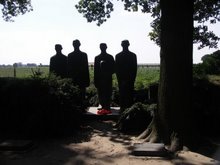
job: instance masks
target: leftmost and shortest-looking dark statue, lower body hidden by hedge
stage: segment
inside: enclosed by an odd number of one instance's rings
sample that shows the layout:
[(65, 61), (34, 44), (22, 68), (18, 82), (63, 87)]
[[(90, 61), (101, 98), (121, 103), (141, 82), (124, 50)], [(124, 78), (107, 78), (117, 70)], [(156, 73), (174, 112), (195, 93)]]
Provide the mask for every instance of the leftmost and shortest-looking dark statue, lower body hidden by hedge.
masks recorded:
[(62, 54), (62, 45), (56, 44), (56, 55), (50, 58), (49, 73), (61, 78), (67, 77), (67, 57)]

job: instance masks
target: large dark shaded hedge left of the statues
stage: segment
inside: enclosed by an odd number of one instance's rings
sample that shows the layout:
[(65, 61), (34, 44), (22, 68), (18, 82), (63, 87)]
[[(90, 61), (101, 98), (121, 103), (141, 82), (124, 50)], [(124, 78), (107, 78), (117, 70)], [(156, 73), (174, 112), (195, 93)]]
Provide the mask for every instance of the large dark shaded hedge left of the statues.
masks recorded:
[(0, 128), (5, 136), (64, 135), (79, 127), (79, 89), (69, 79), (1, 78), (0, 85)]

